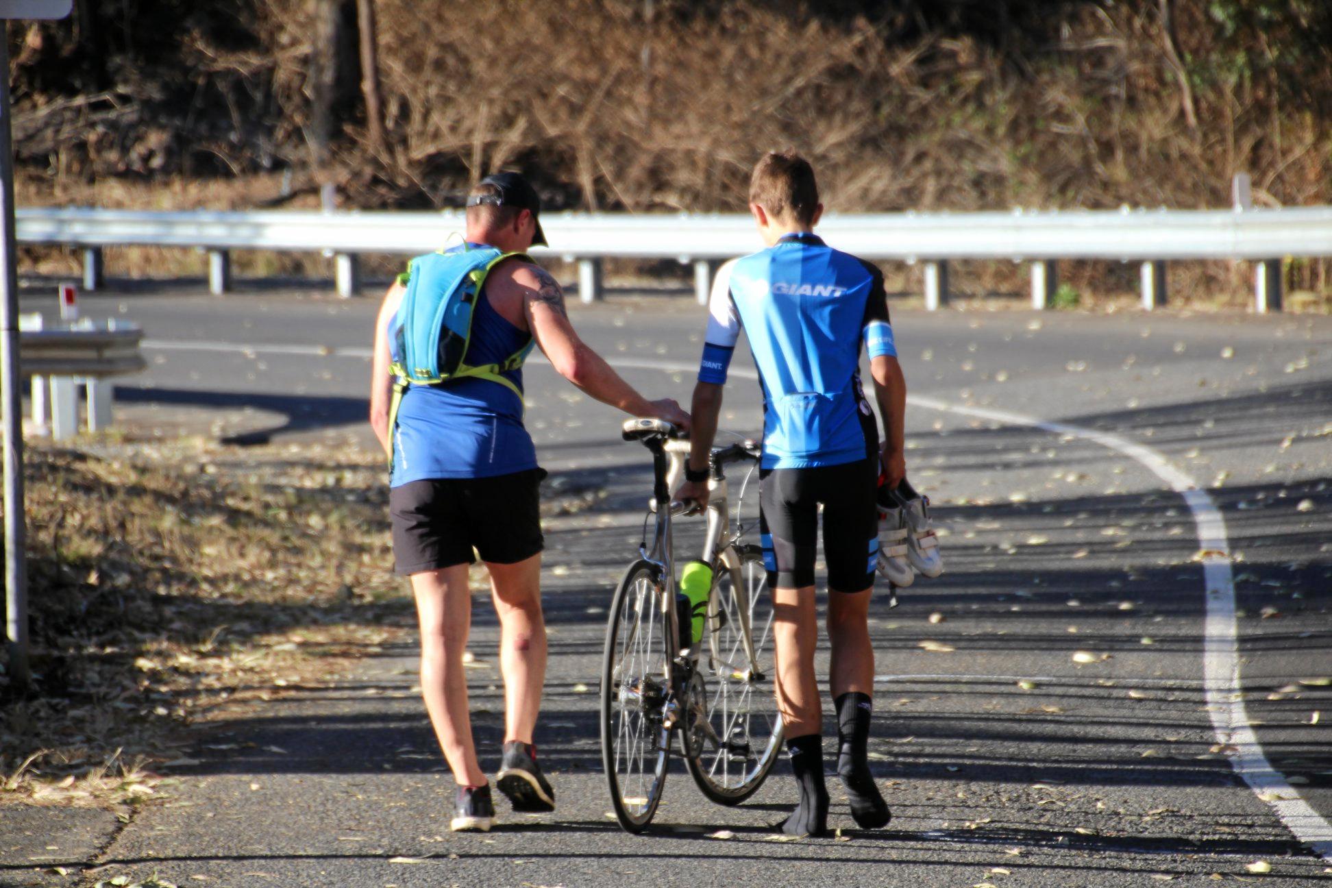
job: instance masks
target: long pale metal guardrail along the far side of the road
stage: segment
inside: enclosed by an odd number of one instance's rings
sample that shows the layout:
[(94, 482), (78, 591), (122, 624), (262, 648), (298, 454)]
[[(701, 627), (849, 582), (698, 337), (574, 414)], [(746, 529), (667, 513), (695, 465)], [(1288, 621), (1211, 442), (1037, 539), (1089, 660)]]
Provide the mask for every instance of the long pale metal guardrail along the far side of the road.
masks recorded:
[[(577, 261), (583, 301), (598, 297), (601, 260), (610, 257), (693, 262), (698, 297), (706, 301), (717, 262), (762, 246), (746, 214), (546, 213), (542, 228), (553, 246), (533, 253)], [(229, 250), (332, 253), (338, 293), (350, 296), (360, 284), (358, 254), (418, 254), (462, 229), (458, 212), (17, 212), (20, 244), (85, 250), (85, 289), (101, 282), (104, 246), (155, 245), (208, 250), (216, 293), (229, 286)], [(951, 260), (1032, 262), (1035, 308), (1054, 294), (1059, 260), (1142, 262), (1148, 309), (1166, 301), (1164, 262), (1239, 260), (1256, 262), (1255, 306), (1265, 312), (1280, 308), (1283, 257), (1332, 256), (1332, 208), (829, 214), (819, 233), (868, 260), (923, 262), (931, 309), (947, 302)]]

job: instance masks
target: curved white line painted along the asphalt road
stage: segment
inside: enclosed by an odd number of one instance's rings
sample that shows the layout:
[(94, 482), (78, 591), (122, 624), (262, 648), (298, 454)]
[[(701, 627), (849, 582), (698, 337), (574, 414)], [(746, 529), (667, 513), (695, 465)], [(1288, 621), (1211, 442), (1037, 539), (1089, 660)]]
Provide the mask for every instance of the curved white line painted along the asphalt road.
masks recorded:
[[(364, 347), (334, 349), (309, 345), (244, 345), (237, 342), (145, 339), (143, 347), (173, 351), (226, 351), (238, 354), (264, 351), (269, 354), (294, 355), (370, 357), (370, 349)], [(545, 363), (545, 359), (539, 354), (533, 354), (530, 359)], [(694, 373), (698, 370), (697, 363), (681, 361), (657, 361), (618, 354), (613, 355), (613, 361), (622, 367), (665, 373)], [(757, 371), (743, 367), (734, 367), (730, 374), (746, 379), (758, 378)], [(968, 407), (920, 395), (908, 395), (907, 403), (927, 410), (940, 410), (978, 419), (990, 419), (1010, 426), (1042, 429), (1043, 431), (1099, 443), (1103, 447), (1138, 461), (1148, 471), (1169, 485), (1171, 490), (1184, 498), (1189, 511), (1193, 514), (1197, 543), (1204, 553), (1203, 579), (1207, 587), (1207, 614), (1203, 622), (1203, 690), (1207, 696), (1207, 711), (1212, 720), (1212, 732), (1220, 744), (1237, 750), (1236, 752), (1227, 754), (1227, 758), (1235, 772), (1253, 789), (1253, 793), (1272, 807), (1296, 839), (1309, 845), (1324, 860), (1332, 861), (1332, 824), (1300, 797), (1300, 793), (1272, 767), (1267, 760), (1263, 746), (1259, 743), (1257, 735), (1249, 727), (1248, 710), (1244, 706), (1244, 694), (1240, 684), (1239, 630), (1235, 623), (1235, 579), (1231, 574), (1231, 546), (1225, 535), (1225, 519), (1207, 491), (1199, 489), (1197, 483), (1188, 474), (1172, 466), (1160, 451), (1110, 434), (1108, 431), (1098, 431), (1096, 429), (1071, 426), (1062, 422), (1046, 422), (1008, 410)], [(875, 676), (875, 680), (900, 680), (900, 678), (904, 676)]]

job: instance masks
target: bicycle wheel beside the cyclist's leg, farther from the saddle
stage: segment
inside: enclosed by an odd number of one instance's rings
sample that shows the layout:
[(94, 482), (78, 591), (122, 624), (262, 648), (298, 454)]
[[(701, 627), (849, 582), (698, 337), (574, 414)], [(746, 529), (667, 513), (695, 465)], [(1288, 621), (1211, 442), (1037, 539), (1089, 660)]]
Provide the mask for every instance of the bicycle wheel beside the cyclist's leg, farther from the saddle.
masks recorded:
[(722, 551), (686, 708), (685, 762), (705, 796), (739, 804), (782, 750), (773, 662), (773, 599), (757, 546)]

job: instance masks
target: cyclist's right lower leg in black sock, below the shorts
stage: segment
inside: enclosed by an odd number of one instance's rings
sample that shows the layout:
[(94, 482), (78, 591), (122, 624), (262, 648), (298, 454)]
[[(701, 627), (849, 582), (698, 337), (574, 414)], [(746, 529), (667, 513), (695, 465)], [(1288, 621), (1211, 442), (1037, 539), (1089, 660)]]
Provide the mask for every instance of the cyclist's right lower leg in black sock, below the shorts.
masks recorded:
[(870, 772), (870, 722), (874, 714), (874, 647), (870, 644), (870, 594), (829, 592), (829, 640), (832, 643), (831, 686), (836, 704), (836, 772), (846, 787), (851, 816), (866, 829), (891, 819)]

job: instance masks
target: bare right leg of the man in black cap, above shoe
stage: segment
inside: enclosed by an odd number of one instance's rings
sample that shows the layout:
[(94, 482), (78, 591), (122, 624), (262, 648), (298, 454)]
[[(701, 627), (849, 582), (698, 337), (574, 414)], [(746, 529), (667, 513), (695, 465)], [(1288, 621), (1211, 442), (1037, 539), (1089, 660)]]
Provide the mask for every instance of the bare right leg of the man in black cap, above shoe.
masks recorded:
[(490, 592), (500, 615), (505, 743), (531, 743), (546, 683), (546, 623), (541, 614), (541, 555), (514, 564), (488, 562)]

